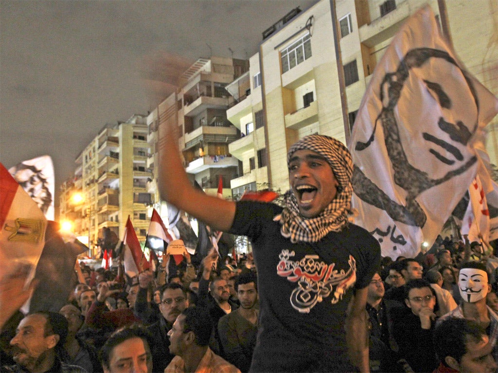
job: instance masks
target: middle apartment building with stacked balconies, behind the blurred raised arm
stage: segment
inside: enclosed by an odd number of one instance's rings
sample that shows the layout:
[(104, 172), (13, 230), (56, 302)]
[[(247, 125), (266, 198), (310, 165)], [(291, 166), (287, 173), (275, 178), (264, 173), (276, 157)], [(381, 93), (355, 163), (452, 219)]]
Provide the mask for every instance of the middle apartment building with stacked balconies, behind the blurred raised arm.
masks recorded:
[[(147, 117), (148, 141), (154, 156), (148, 161), (157, 165), (157, 137), (160, 126), (178, 128), (178, 146), (192, 182), (206, 193), (215, 194), (219, 178), (225, 196), (231, 196), (230, 181), (242, 175), (242, 163), (229, 150), (229, 144), (241, 137), (240, 128), (227, 119), (233, 97), (226, 90), (229, 83), (249, 70), (249, 61), (231, 58), (200, 58), (179, 78), (179, 88)], [(157, 167), (154, 168), (154, 182)], [(154, 183), (149, 191), (156, 193)], [(157, 199), (159, 201), (159, 199)], [(162, 210), (158, 202), (154, 207)], [(165, 213), (159, 212), (161, 215)]]

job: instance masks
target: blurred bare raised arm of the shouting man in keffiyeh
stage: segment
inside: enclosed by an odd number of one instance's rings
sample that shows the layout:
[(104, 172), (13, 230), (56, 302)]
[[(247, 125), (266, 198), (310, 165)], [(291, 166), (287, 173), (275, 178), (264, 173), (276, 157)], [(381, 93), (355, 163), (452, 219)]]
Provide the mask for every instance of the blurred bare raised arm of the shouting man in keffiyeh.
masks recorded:
[[(174, 125), (173, 125), (174, 126)], [(178, 150), (177, 128), (159, 128), (159, 180), (161, 199), (221, 231), (228, 231), (235, 216), (235, 202), (197, 190), (190, 183)]]

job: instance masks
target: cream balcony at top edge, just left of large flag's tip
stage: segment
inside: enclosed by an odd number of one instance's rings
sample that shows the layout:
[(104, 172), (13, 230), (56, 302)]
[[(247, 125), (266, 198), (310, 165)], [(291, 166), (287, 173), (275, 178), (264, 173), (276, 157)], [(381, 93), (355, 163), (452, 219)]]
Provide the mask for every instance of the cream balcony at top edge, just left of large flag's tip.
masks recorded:
[[(419, 6), (419, 5), (415, 5)], [(374, 19), (369, 24), (361, 26), (358, 31), (360, 42), (369, 48), (392, 38), (399, 29), (399, 26), (409, 17), (415, 9), (408, 1), (396, 3), (396, 9)]]

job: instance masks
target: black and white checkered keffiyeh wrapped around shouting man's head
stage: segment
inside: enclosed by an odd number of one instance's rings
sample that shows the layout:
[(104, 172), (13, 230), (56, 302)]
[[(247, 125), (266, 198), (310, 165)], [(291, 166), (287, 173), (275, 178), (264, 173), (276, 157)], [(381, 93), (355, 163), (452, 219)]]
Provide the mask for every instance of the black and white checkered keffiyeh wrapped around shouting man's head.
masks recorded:
[(287, 153), (287, 166), (294, 152), (304, 149), (312, 150), (325, 157), (334, 172), (339, 187), (332, 202), (320, 215), (314, 218), (302, 217), (292, 190), (285, 193), (286, 207), (279, 219), (282, 224), (280, 232), (282, 236), (290, 238), (292, 243), (317, 242), (329, 232), (341, 231), (348, 224), (348, 213), (353, 193), (351, 185), (353, 161), (348, 148), (342, 142), (324, 135), (306, 136), (290, 147)]

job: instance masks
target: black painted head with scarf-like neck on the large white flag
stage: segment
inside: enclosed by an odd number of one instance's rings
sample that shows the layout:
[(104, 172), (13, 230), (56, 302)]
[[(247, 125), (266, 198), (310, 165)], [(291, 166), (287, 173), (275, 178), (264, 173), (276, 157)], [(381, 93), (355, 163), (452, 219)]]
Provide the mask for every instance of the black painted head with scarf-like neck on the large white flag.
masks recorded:
[(392, 200), (356, 165), (354, 191), (393, 220), (422, 228), (427, 217), (415, 198), (477, 162), (466, 149), (478, 126), (477, 93), (448, 53), (417, 48), (406, 53), (396, 72), (385, 75), (380, 99), (382, 110), (373, 133), (367, 142), (358, 141), (355, 150), (361, 152), (373, 143), (380, 123), (394, 183), (404, 190), (406, 202)]

